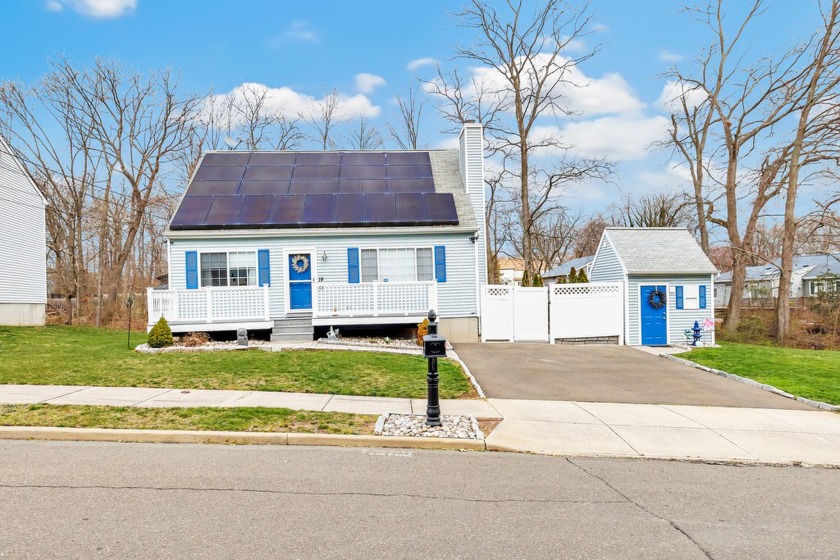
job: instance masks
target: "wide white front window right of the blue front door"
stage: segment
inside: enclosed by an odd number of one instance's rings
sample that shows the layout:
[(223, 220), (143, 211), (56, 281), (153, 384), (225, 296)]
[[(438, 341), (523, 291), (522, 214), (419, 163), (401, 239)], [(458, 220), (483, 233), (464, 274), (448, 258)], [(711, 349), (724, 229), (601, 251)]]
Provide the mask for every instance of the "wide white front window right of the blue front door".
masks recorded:
[(431, 282), (431, 247), (361, 250), (362, 282)]

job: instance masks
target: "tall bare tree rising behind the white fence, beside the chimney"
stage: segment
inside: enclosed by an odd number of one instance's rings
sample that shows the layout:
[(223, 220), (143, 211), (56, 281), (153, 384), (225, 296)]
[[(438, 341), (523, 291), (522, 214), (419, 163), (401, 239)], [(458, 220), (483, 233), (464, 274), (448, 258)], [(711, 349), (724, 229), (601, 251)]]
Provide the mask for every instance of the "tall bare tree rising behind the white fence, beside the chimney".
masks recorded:
[[(456, 14), (461, 25), (476, 32), (472, 47), (457, 50), (457, 56), (491, 69), (483, 78), (463, 80), (457, 70), (438, 70), (427, 90), (442, 101), (441, 114), (450, 122), (477, 119), (489, 136), (488, 153), (503, 153), (518, 181), (519, 236), (527, 277), (533, 277), (534, 224), (549, 201), (567, 181), (600, 178), (609, 166), (598, 160), (581, 161), (570, 146), (552, 135), (537, 138), (534, 128), (545, 115), (569, 115), (572, 110), (563, 93), (572, 83), (572, 72), (594, 50), (572, 55), (567, 47), (579, 41), (591, 27), (586, 5), (568, 0), (548, 0), (526, 13), (522, 1), (510, 0), (502, 13), (480, 0), (472, 0)], [(551, 149), (561, 156), (551, 172), (535, 172), (535, 153)], [(539, 185), (535, 187), (533, 181)], [(538, 193), (535, 196), (535, 193)], [(534, 204), (537, 207), (534, 207)]]

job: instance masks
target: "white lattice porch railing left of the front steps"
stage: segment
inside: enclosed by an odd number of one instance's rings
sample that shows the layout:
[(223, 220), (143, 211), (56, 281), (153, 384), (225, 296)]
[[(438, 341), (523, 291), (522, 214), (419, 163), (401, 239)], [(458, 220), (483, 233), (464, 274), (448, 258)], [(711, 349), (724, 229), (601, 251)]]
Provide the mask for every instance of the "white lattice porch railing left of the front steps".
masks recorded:
[(149, 325), (170, 323), (268, 321), (268, 286), (147, 291)]

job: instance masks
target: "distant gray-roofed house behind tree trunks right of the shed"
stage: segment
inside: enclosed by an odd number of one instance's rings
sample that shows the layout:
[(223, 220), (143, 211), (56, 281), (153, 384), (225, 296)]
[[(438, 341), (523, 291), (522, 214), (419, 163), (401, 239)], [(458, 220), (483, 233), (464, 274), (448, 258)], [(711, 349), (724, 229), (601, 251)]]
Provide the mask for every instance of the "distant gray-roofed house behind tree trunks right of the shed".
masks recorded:
[[(780, 265), (781, 259), (775, 259), (771, 264), (748, 266), (743, 299), (748, 302), (763, 302), (778, 297)], [(793, 257), (791, 299), (810, 298), (820, 291), (832, 289), (840, 290), (840, 253)], [(732, 272), (721, 273), (715, 279), (715, 305), (726, 307), (731, 294)]]

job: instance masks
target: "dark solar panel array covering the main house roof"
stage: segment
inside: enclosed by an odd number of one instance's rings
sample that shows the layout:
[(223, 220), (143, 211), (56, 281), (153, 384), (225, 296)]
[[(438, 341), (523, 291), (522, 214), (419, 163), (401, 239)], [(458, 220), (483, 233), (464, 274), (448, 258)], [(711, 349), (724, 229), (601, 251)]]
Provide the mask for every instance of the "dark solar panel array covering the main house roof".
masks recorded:
[(428, 152), (214, 152), (172, 229), (457, 225)]

